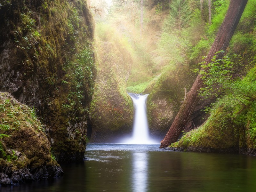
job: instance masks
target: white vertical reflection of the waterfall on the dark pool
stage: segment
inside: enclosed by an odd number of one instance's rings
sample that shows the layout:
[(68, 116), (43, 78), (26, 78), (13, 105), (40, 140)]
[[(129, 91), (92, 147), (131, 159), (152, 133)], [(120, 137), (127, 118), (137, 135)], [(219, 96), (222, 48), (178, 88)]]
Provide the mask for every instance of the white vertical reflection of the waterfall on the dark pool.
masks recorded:
[(145, 192), (148, 187), (148, 154), (145, 152), (133, 153), (132, 164), (133, 192)]

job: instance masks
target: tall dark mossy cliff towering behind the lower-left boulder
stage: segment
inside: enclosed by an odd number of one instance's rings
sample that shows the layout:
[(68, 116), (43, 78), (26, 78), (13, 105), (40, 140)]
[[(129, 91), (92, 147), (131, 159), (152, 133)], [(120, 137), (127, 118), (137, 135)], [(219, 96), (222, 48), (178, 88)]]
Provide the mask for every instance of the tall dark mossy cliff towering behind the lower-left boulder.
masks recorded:
[(59, 161), (82, 160), (95, 75), (87, 2), (0, 4), (0, 90), (36, 109)]

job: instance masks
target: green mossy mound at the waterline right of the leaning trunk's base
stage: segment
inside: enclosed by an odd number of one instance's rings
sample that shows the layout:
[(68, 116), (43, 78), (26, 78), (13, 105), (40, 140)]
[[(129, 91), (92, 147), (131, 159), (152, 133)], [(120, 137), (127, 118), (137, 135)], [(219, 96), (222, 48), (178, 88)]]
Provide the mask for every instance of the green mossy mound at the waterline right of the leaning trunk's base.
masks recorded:
[(186, 133), (171, 147), (215, 152), (239, 149), (238, 127), (231, 120), (233, 110), (227, 105), (219, 106), (203, 125)]

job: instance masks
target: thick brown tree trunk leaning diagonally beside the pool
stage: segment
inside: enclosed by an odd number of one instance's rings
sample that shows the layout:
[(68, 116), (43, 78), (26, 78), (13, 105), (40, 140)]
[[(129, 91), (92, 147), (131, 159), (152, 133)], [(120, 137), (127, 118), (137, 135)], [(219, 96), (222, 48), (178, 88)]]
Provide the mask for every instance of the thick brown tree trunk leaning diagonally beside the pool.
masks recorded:
[[(212, 44), (212, 47), (205, 60), (206, 64), (211, 62), (214, 53), (221, 50), (225, 51), (227, 49), (230, 39), (235, 32), (236, 26), (242, 16), (242, 13), (244, 12), (246, 4), (247, 0), (230, 1), (226, 17), (220, 26), (215, 41)], [(222, 56), (223, 54), (219, 55), (219, 58)], [(191, 114), (193, 113), (198, 101), (200, 100), (200, 96), (198, 96), (198, 91), (202, 87), (204, 87), (204, 83), (201, 75), (198, 75), (191, 90), (188, 92), (187, 97), (184, 100), (177, 116), (175, 117), (172, 126), (165, 135), (164, 139), (161, 141), (160, 148), (167, 147), (171, 143), (177, 141), (182, 129), (188, 123)]]

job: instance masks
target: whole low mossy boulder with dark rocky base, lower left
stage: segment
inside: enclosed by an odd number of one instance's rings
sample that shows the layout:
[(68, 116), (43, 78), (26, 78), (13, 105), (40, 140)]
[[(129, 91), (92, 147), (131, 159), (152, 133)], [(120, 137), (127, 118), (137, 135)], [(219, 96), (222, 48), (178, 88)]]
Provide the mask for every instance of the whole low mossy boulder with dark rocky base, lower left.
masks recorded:
[[(35, 111), (0, 92), (0, 184), (48, 179), (63, 174), (52, 156)], [(4, 134), (4, 135), (3, 135)]]

